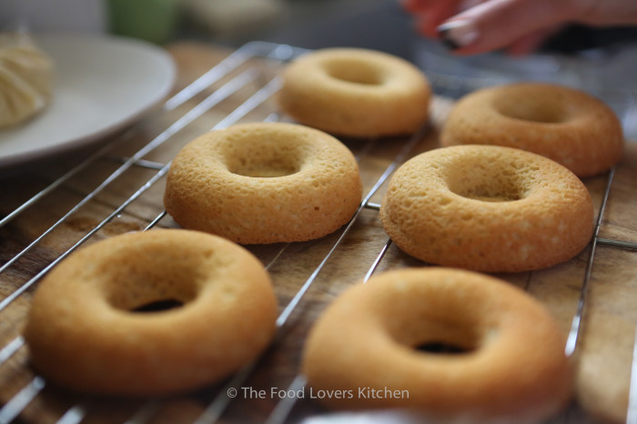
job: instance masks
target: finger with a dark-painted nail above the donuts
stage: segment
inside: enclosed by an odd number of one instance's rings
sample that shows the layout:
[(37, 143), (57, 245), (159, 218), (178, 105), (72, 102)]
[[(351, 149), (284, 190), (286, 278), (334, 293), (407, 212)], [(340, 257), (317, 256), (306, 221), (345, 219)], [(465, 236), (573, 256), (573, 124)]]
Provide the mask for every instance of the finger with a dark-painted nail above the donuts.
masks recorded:
[(570, 2), (553, 0), (491, 0), (453, 16), (438, 30), (455, 53), (484, 53), (565, 21), (569, 7)]

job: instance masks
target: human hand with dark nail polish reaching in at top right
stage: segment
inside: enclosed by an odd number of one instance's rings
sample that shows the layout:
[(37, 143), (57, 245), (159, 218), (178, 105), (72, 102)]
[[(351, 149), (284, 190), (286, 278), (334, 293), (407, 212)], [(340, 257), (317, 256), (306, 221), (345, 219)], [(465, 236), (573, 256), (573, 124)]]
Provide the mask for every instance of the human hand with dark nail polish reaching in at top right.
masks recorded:
[(511, 55), (536, 50), (568, 23), (637, 25), (633, 0), (402, 0), (422, 35), (440, 38), (454, 53), (499, 48)]

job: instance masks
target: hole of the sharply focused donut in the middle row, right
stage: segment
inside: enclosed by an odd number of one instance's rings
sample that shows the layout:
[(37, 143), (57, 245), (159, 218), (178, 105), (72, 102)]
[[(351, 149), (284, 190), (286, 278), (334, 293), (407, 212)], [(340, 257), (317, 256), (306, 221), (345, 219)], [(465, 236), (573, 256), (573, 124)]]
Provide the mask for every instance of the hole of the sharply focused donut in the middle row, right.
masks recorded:
[[(526, 197), (528, 191), (512, 169), (493, 173), (489, 164), (468, 164), (448, 178), (451, 192), (482, 202), (512, 202)], [(511, 165), (511, 168), (515, 167)]]

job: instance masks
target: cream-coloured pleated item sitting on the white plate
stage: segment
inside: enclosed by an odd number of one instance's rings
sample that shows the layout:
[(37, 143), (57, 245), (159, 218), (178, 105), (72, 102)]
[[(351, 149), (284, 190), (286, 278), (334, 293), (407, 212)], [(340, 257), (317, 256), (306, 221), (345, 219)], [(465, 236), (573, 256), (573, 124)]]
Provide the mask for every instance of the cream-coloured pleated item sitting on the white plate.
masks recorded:
[(53, 68), (26, 33), (0, 33), (0, 128), (20, 124), (48, 105)]

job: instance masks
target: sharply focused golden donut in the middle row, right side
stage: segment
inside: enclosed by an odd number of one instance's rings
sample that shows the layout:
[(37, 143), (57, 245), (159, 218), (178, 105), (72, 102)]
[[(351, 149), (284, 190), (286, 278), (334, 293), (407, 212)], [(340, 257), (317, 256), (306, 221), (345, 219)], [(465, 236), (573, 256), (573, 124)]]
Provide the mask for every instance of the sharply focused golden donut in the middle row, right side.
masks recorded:
[(385, 231), (425, 262), (484, 272), (548, 268), (591, 239), (589, 192), (544, 156), (501, 146), (442, 147), (389, 181)]

